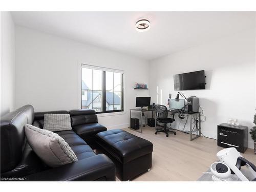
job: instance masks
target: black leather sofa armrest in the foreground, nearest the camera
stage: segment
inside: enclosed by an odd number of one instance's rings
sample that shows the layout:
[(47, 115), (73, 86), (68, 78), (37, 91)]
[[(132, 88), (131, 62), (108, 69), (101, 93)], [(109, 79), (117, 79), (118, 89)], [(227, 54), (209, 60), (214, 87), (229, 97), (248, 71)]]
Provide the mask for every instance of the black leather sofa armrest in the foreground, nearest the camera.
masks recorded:
[(99, 154), (26, 177), (26, 181), (115, 181), (115, 164)]

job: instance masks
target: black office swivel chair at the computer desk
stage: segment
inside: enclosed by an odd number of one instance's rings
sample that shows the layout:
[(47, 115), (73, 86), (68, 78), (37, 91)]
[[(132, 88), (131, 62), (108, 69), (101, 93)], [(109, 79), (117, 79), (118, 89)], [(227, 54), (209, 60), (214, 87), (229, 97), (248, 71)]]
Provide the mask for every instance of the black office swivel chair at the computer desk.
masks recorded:
[[(169, 137), (168, 133), (173, 133), (174, 135), (176, 135), (175, 131), (170, 131), (170, 129), (167, 127), (167, 123), (172, 123), (175, 121), (174, 115), (173, 115), (173, 118), (167, 118), (168, 111), (167, 111), (166, 106), (164, 106), (164, 105), (157, 104), (157, 105), (155, 105), (155, 109), (156, 109), (156, 116), (157, 116), (157, 118), (156, 118), (156, 133), (155, 134), (157, 135), (157, 133), (163, 132), (166, 134), (166, 137)], [(158, 122), (163, 123), (163, 126), (158, 125)], [(158, 126), (161, 126), (161, 128), (158, 128)]]

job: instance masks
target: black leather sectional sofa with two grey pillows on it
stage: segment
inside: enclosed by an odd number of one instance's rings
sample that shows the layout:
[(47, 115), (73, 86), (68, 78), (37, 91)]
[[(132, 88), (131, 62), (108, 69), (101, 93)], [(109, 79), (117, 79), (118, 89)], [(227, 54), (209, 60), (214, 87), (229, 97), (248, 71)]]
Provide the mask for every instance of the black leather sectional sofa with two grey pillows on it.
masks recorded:
[[(78, 161), (51, 168), (44, 164), (26, 141), (25, 124), (42, 128), (44, 114), (70, 114), (72, 130), (56, 132), (70, 145)], [(1, 178), (26, 181), (115, 181), (115, 165), (105, 155), (96, 155), (95, 135), (106, 131), (94, 110), (34, 113), (25, 105), (1, 118)]]

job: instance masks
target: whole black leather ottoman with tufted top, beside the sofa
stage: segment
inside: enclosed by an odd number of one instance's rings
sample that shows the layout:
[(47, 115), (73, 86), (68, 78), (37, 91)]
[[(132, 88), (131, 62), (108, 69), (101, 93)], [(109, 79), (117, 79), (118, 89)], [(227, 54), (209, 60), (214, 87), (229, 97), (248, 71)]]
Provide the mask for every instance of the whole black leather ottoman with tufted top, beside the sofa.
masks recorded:
[(123, 130), (110, 130), (96, 135), (96, 153), (108, 156), (116, 165), (116, 176), (121, 181), (150, 170), (153, 144)]

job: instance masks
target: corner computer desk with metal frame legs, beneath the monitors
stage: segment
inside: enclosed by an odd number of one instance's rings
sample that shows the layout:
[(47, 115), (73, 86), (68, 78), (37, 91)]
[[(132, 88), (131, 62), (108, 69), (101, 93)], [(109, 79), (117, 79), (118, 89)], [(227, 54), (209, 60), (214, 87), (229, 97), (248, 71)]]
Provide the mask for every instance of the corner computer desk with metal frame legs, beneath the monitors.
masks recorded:
[[(174, 112), (171, 112), (172, 109), (168, 109), (168, 114), (170, 115), (177, 115), (179, 113), (174, 113)], [(131, 127), (131, 118), (132, 118), (132, 111), (133, 112), (139, 112), (140, 113), (140, 128), (139, 130), (134, 130), (132, 129)], [(139, 132), (139, 133), (143, 133), (143, 123), (142, 123), (142, 113), (143, 112), (148, 112), (148, 111), (151, 111), (152, 112), (152, 118), (153, 118), (153, 111), (155, 111), (155, 109), (153, 108), (148, 108), (148, 109), (130, 109), (130, 129), (133, 130), (133, 131), (136, 131), (136, 132)], [(199, 116), (199, 126), (198, 126), (198, 130), (197, 130), (197, 134), (195, 137), (193, 137), (194, 134), (192, 134), (192, 118), (197, 115)], [(190, 138), (190, 141), (193, 141), (194, 139), (198, 138), (201, 136), (201, 113), (200, 112), (196, 112), (196, 113), (183, 113), (184, 116), (187, 116), (187, 118), (189, 118), (189, 138)], [(156, 114), (155, 114), (155, 119), (156, 119)], [(145, 124), (147, 123), (147, 121), (145, 122)], [(156, 127), (156, 121), (155, 121), (155, 127)]]

